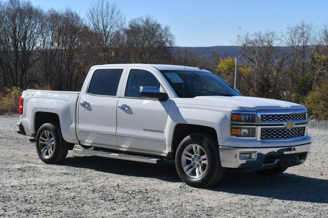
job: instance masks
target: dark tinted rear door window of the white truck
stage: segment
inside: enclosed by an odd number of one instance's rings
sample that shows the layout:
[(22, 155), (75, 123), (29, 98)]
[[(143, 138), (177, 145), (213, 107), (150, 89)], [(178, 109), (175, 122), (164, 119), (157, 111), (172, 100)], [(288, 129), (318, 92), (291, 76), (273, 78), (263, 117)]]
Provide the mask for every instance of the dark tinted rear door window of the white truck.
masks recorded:
[(91, 78), (88, 93), (116, 96), (123, 69), (96, 70)]

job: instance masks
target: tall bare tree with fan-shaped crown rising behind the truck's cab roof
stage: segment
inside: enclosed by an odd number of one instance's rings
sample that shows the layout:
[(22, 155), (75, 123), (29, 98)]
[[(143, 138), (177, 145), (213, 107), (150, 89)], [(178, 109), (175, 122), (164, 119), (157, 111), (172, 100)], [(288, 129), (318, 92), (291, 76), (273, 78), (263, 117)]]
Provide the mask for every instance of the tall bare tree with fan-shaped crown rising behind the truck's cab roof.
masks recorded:
[[(118, 35), (125, 23), (121, 10), (114, 2), (97, 0), (87, 12), (88, 24), (99, 38), (99, 52), (103, 62), (115, 55)], [(113, 53), (114, 52), (114, 53)]]

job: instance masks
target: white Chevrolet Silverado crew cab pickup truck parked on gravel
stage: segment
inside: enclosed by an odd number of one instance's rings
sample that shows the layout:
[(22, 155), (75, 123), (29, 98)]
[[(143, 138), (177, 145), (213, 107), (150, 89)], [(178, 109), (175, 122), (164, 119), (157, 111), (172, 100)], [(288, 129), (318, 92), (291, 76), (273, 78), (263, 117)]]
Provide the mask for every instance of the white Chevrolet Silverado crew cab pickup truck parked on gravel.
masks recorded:
[(172, 159), (195, 187), (217, 183), (227, 168), (276, 175), (310, 155), (304, 106), (241, 96), (192, 67), (94, 66), (81, 92), (24, 91), (19, 114), (19, 133), (35, 137), (45, 163), (70, 149), (148, 163)]

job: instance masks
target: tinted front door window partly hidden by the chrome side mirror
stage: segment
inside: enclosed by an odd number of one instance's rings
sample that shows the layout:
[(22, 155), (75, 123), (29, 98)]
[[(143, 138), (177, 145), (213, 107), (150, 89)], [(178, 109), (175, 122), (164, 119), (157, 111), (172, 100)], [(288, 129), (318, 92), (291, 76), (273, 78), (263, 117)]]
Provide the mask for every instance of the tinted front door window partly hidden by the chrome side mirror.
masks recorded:
[(141, 86), (153, 86), (159, 88), (160, 83), (156, 77), (144, 70), (131, 70), (128, 78), (126, 97), (140, 97), (139, 91)]

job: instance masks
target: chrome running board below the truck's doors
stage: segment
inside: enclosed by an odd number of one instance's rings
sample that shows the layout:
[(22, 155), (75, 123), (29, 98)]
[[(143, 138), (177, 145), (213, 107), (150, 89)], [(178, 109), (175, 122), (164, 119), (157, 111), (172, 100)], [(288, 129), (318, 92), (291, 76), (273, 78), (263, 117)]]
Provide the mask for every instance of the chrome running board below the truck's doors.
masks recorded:
[(135, 156), (135, 155), (126, 155), (126, 154), (116, 154), (106, 151), (100, 150), (92, 150), (92, 149), (84, 149), (84, 148), (73, 148), (73, 152), (75, 154), (83, 154), (83, 155), (93, 155), (105, 158), (114, 158), (120, 160), (128, 160), (128, 161), (138, 161), (138, 162), (145, 162), (145, 163), (153, 163), (158, 164), (162, 162), (163, 159), (158, 158), (150, 158), (144, 156)]

